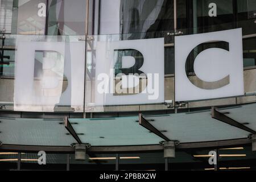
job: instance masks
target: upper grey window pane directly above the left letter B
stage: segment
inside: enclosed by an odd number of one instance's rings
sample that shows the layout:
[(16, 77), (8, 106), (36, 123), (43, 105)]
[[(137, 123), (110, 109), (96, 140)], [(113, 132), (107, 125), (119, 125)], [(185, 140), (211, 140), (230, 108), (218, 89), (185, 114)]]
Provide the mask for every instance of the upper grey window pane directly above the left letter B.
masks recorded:
[(48, 35), (85, 35), (85, 0), (50, 0)]

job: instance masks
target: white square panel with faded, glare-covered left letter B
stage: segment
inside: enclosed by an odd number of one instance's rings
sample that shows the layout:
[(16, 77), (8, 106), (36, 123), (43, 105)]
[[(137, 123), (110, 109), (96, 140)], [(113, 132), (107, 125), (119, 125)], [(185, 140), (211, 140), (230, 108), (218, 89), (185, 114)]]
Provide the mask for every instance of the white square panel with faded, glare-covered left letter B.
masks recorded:
[(56, 106), (82, 110), (84, 42), (24, 40), (17, 38), (16, 43), (15, 110), (53, 111)]

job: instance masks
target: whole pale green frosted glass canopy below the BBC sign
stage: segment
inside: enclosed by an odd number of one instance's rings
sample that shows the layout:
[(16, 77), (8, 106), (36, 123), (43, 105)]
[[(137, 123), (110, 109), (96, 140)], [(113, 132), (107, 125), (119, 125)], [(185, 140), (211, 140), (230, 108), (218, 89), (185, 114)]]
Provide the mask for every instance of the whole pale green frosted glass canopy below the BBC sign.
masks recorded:
[[(256, 104), (217, 109), (234, 121), (256, 130)], [(162, 133), (180, 143), (211, 142), (247, 138), (251, 133), (241, 127), (212, 118), (211, 111), (166, 115), (143, 115), (154, 130), (146, 129), (137, 117), (72, 119), (68, 122), (81, 143), (91, 146), (139, 146), (159, 144)], [(0, 118), (3, 144), (29, 146), (70, 146), (77, 143), (63, 119)]]

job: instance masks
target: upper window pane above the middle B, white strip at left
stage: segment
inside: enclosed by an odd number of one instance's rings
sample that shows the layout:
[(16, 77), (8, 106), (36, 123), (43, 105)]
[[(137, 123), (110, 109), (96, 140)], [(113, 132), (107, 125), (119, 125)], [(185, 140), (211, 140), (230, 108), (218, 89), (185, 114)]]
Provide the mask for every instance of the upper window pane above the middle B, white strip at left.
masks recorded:
[(101, 1), (98, 34), (139, 36), (138, 33), (142, 32), (149, 38), (158, 37), (151, 32), (168, 31), (174, 28), (173, 7), (173, 0)]

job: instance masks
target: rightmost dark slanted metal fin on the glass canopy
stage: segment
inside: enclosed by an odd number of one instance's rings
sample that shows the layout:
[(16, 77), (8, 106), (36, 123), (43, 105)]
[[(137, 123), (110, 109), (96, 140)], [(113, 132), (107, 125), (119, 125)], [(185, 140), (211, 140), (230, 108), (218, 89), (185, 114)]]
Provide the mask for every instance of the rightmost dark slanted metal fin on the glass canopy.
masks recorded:
[(232, 125), (234, 127), (237, 127), (238, 129), (245, 130), (249, 133), (256, 134), (256, 131), (241, 124), (240, 122), (235, 121), (234, 119), (228, 117), (227, 115), (220, 113), (220, 111), (217, 111), (216, 107), (212, 107), (212, 118), (217, 119), (218, 121), (227, 123), (229, 125)]

